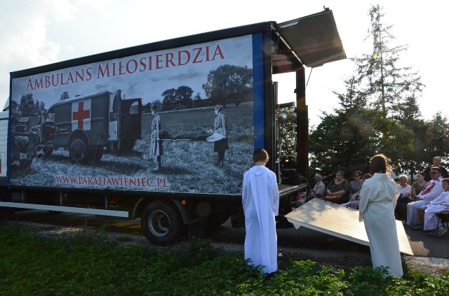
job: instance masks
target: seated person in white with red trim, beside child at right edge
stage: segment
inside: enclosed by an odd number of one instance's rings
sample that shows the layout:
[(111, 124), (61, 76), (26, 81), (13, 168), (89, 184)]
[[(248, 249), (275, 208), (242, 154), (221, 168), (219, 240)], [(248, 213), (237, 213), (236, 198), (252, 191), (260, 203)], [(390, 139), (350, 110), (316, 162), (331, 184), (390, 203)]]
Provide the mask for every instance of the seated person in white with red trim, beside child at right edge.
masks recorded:
[(420, 225), (420, 221), (417, 215), (417, 209), (426, 204), (429, 204), (432, 200), (434, 200), (438, 195), (441, 195), (443, 192), (443, 187), (441, 186), (441, 169), (439, 167), (432, 167), (430, 170), (431, 181), (427, 182), (426, 185), (422, 188), (419, 195), (413, 199), (413, 202), (407, 204), (407, 225), (414, 229), (420, 229), (422, 225)]

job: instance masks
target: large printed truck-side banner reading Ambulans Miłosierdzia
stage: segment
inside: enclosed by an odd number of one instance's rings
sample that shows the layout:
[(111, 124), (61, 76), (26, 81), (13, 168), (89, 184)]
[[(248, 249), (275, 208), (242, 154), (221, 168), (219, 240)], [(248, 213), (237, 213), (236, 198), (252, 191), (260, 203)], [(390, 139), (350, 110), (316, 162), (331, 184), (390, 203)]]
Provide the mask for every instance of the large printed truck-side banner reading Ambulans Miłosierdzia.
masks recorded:
[[(11, 147), (22, 148), (11, 155), (11, 185), (241, 192), (254, 146), (253, 36), (82, 64), (11, 85), (11, 129), (22, 133), (11, 137)], [(142, 108), (120, 103), (130, 99), (141, 99)], [(138, 139), (121, 139), (139, 129)], [(32, 142), (34, 155), (23, 148)], [(86, 155), (92, 161), (76, 161)]]

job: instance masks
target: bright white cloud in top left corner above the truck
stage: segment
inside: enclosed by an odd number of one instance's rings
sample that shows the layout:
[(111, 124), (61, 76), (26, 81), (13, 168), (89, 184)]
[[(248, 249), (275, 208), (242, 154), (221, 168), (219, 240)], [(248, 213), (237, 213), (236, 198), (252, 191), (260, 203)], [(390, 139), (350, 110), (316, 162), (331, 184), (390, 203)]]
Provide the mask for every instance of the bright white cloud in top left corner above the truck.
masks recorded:
[[(0, 102), (8, 97), (9, 72), (58, 62), (60, 44), (48, 39), (48, 26), (74, 19), (77, 9), (72, 2), (68, 0), (2, 1)], [(3, 106), (3, 103), (0, 105)]]

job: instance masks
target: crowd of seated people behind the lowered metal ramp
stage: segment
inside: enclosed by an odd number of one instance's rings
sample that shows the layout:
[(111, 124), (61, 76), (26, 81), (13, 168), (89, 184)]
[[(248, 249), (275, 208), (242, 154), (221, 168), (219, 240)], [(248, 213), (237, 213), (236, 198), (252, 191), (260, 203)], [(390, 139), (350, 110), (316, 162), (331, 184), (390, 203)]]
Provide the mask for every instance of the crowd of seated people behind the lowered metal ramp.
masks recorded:
[[(426, 173), (419, 171), (416, 174), (417, 180), (411, 185), (408, 184), (408, 176), (401, 174), (398, 178), (399, 197), (395, 208), (397, 220), (406, 221), (406, 225), (414, 230), (426, 230), (429, 234), (441, 237), (448, 232), (443, 226), (438, 227), (438, 218), (435, 213), (449, 211), (449, 178), (447, 170), (441, 167), (441, 157), (434, 157), (434, 164), (426, 169), (430, 181), (425, 181)], [(446, 176), (445, 176), (446, 175)], [(361, 198), (361, 188), (363, 182), (370, 178), (370, 174), (363, 175), (356, 170), (353, 174), (353, 181), (349, 183), (344, 178), (344, 171), (337, 171), (335, 178), (326, 186), (323, 183), (323, 176), (316, 174), (314, 177), (314, 188), (307, 194), (307, 190), (297, 194), (294, 207), (302, 206), (313, 198), (325, 199), (358, 209)]]

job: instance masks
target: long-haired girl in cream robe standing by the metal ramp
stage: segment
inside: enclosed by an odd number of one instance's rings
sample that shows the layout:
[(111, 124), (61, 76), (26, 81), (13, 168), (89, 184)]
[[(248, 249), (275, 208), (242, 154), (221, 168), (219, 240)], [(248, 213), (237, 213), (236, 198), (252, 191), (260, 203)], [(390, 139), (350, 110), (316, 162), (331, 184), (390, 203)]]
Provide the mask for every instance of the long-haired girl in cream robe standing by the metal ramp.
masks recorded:
[(358, 205), (359, 220), (365, 220), (370, 243), (373, 268), (388, 267), (391, 275), (402, 276), (394, 206), (399, 196), (398, 186), (387, 174), (387, 157), (383, 154), (371, 158), (373, 175), (363, 183)]

